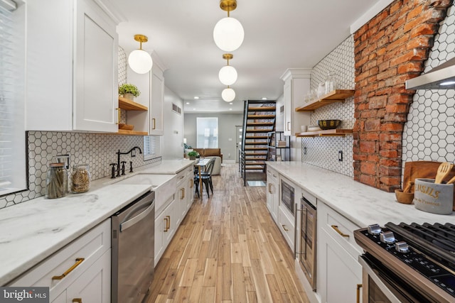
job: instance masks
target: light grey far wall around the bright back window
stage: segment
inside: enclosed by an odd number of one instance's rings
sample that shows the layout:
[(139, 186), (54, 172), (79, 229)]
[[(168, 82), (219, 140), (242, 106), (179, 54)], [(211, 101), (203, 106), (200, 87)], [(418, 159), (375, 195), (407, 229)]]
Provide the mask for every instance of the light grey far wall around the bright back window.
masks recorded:
[(235, 161), (235, 126), (242, 125), (243, 114), (185, 114), (184, 136), (186, 143), (196, 146), (197, 117), (218, 117), (218, 148), (221, 149), (224, 161)]

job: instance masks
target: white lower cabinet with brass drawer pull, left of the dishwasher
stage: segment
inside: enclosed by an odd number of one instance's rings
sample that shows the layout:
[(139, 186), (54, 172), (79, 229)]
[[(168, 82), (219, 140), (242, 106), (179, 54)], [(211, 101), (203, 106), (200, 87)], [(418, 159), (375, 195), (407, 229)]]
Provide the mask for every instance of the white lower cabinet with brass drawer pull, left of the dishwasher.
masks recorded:
[(87, 231), (9, 286), (49, 287), (50, 302), (111, 301), (111, 222)]

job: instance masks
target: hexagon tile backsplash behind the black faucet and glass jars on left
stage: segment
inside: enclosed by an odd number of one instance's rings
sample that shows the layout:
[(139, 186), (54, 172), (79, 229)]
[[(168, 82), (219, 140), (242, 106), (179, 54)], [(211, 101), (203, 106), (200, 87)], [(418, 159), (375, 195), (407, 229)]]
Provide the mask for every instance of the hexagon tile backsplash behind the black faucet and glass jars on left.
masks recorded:
[[(70, 167), (87, 163), (92, 180), (97, 180), (110, 175), (109, 163), (117, 163), (118, 150), (127, 152), (134, 146), (144, 150), (142, 136), (54, 131), (28, 131), (27, 135), (28, 190), (0, 197), (0, 209), (43, 196), (48, 163), (53, 161), (56, 155), (70, 154)], [(122, 157), (122, 160), (133, 161), (133, 167), (161, 161), (161, 157), (144, 161), (139, 154), (134, 158), (129, 158), (128, 155)]]

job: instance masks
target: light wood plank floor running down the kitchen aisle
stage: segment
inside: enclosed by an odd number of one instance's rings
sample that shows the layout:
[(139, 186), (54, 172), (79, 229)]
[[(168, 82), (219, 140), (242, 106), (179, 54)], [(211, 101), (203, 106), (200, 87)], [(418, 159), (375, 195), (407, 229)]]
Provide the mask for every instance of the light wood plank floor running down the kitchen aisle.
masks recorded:
[(265, 187), (243, 187), (238, 166), (195, 197), (155, 268), (147, 302), (309, 302), (291, 250), (266, 206)]

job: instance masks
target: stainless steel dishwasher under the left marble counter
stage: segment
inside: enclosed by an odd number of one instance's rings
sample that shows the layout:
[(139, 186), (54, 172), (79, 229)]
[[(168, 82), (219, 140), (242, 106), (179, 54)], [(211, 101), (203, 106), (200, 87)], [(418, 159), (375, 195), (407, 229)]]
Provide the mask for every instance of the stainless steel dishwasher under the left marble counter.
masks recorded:
[(112, 216), (112, 303), (138, 303), (154, 279), (155, 192)]

